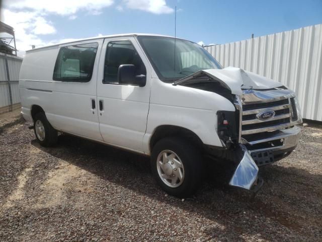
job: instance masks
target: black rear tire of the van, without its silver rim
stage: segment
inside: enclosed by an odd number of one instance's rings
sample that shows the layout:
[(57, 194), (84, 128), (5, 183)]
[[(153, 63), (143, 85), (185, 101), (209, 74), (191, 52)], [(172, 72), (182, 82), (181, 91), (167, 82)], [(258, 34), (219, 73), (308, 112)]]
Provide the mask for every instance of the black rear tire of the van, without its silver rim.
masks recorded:
[[(45, 138), (44, 140), (40, 140), (36, 133), (36, 122), (40, 120), (43, 124), (44, 131), (45, 131)], [(57, 131), (49, 124), (47, 117), (44, 112), (38, 112), (34, 118), (34, 132), (36, 139), (38, 140), (39, 144), (44, 147), (54, 146), (57, 143), (58, 134)]]

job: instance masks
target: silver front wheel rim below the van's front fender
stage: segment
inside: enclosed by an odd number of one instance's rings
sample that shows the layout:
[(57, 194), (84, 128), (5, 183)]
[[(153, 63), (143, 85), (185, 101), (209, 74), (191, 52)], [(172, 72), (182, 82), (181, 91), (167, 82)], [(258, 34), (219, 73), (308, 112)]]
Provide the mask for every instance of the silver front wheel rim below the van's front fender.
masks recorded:
[(159, 153), (156, 159), (157, 173), (164, 184), (178, 188), (184, 181), (185, 170), (180, 157), (171, 150)]

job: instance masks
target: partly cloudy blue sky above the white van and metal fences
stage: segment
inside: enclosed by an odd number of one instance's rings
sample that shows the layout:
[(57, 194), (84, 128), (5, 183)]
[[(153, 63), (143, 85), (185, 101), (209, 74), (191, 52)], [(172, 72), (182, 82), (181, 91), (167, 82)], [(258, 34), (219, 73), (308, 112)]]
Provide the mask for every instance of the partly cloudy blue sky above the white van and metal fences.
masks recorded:
[[(174, 35), (226, 43), (322, 23), (322, 0), (10, 0), (1, 19), (16, 30), (17, 47), (117, 33)], [(23, 51), (21, 52), (23, 53)]]

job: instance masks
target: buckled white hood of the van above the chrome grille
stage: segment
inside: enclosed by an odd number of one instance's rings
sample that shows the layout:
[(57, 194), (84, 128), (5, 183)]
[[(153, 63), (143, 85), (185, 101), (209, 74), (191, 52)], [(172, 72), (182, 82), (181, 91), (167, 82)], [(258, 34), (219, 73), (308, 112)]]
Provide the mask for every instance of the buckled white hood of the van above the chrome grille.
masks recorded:
[(205, 74), (219, 81), (222, 86), (230, 89), (231, 93), (236, 95), (243, 94), (243, 89), (270, 89), (282, 86), (281, 83), (273, 81), (272, 79), (234, 67), (198, 71), (178, 80), (175, 84), (179, 85), (193, 78), (204, 76)]

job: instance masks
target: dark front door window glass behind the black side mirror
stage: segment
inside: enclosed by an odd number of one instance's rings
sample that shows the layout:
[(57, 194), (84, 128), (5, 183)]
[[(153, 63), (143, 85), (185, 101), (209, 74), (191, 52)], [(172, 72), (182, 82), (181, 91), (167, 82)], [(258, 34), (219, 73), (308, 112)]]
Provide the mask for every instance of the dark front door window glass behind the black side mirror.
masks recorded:
[(145, 66), (129, 40), (109, 42), (105, 54), (103, 83), (117, 84), (118, 68), (126, 64), (135, 66), (135, 75), (146, 75)]

